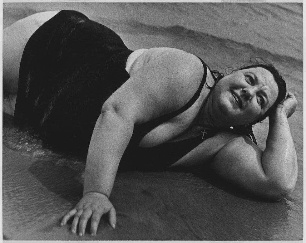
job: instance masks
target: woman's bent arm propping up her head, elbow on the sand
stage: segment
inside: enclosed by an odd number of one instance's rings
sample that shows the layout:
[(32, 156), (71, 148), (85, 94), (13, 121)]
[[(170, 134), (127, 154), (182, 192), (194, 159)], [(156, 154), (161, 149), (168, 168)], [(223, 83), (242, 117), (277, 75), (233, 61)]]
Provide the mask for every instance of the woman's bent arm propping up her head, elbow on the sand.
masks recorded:
[(225, 179), (261, 197), (280, 199), (294, 189), (297, 157), (289, 118), (297, 101), (293, 94), (269, 116), (269, 134), (262, 151), (246, 137), (232, 139), (216, 154), (212, 167)]

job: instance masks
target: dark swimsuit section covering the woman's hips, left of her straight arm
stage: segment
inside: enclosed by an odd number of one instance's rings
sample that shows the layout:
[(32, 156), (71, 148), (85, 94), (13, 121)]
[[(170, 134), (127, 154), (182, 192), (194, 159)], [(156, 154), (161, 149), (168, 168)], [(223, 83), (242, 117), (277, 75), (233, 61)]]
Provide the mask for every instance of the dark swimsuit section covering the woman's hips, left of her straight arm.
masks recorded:
[(23, 52), (16, 123), (52, 140), (87, 141), (102, 104), (129, 78), (131, 53), (109, 28), (76, 11), (59, 12)]

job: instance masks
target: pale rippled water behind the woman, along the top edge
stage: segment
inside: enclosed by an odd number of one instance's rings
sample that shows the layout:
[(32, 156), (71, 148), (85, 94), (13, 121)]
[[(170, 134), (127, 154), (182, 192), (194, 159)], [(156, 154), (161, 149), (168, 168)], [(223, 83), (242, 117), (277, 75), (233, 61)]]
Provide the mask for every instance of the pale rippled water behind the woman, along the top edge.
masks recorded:
[(12, 23), (9, 15), (18, 19), (59, 9), (79, 10), (93, 20), (109, 22), (110, 27), (126, 22), (181, 26), (303, 59), (302, 3), (4, 3), (3, 27)]

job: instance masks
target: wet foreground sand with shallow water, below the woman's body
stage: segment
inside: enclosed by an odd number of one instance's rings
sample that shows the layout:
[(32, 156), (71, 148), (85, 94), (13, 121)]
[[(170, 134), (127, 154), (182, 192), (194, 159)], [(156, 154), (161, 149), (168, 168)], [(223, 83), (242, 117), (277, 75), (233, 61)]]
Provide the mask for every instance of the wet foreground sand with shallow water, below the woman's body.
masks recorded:
[(69, 225), (60, 227), (59, 221), (82, 195), (84, 161), (50, 153), (40, 140), (29, 141), (27, 131), (16, 130), (12, 118), (4, 118), (2, 204), (7, 240), (224, 241), (302, 237), (302, 185), (280, 202), (267, 202), (199, 171), (119, 172), (111, 195), (117, 212), (116, 230), (108, 226), (104, 217), (96, 237), (90, 237), (88, 231), (78, 237), (68, 232)]

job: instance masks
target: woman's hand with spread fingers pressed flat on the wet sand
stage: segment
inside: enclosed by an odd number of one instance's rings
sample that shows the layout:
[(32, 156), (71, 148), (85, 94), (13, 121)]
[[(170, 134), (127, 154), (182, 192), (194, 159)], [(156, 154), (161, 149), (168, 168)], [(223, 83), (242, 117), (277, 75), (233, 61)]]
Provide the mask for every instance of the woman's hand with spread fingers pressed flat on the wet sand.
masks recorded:
[(84, 236), (86, 224), (91, 218), (90, 233), (91, 236), (95, 236), (101, 216), (106, 213), (109, 215), (110, 225), (115, 229), (116, 211), (108, 197), (98, 192), (87, 192), (76, 207), (63, 217), (61, 226), (65, 225), (74, 216), (71, 231), (77, 233), (77, 226), (79, 225), (79, 236)]

